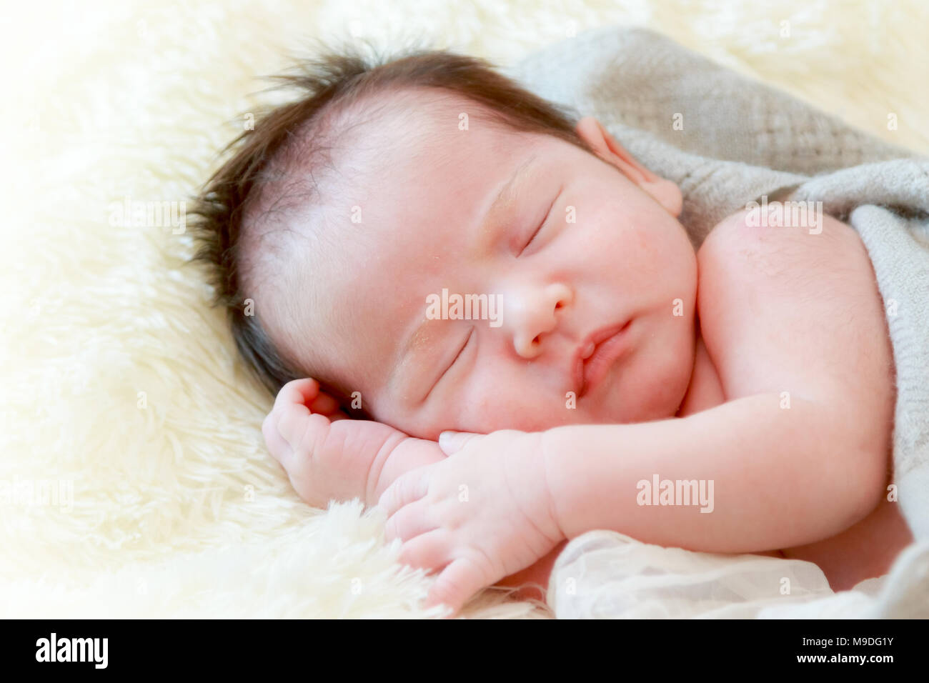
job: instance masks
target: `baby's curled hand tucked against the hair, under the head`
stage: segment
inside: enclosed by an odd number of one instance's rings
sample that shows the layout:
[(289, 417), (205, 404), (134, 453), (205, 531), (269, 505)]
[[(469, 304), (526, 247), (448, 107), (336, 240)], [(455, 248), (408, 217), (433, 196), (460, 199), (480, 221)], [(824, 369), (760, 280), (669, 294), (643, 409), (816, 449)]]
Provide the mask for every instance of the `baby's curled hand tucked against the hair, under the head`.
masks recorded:
[[(350, 419), (338, 401), (308, 378), (281, 387), (261, 431), (296, 493), (314, 507), (325, 507), (332, 499), (376, 500), (386, 459), (412, 440), (394, 427)], [(426, 462), (444, 457), (438, 446), (434, 450)]]

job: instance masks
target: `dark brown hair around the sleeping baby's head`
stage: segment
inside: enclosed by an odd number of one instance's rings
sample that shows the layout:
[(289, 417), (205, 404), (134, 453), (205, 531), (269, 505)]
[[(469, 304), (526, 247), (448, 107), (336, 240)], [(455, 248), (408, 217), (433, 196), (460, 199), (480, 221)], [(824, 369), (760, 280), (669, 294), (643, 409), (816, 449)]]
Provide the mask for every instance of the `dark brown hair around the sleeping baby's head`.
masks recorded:
[[(262, 189), (268, 187), (268, 167), (287, 153), (294, 136), (313, 138), (314, 127), (323, 116), (345, 111), (364, 98), (397, 92), (410, 87), (437, 88), (464, 96), (489, 113), (491, 120), (514, 132), (537, 133), (561, 138), (584, 151), (591, 149), (574, 130), (576, 117), (537, 97), (516, 81), (494, 70), (489, 62), (448, 50), (415, 48), (390, 58), (361, 56), (357, 48), (333, 50), (323, 47), (318, 56), (297, 60), (294, 71), (272, 76), (278, 89), (293, 88), (296, 99), (255, 115), (254, 126), (246, 129), (220, 156), (229, 159), (192, 198), (189, 227), (196, 244), (192, 261), (205, 265), (214, 288), (213, 306), (226, 309), (232, 337), (242, 359), (272, 395), (290, 380), (313, 376), (321, 388), (340, 401), (349, 414), (366, 417), (364, 411), (348, 407), (347, 387), (332, 377), (316, 376), (309, 368), (295, 367), (269, 338), (254, 314), (246, 314), (249, 294), (242, 289), (242, 265), (247, 250), (242, 238), (244, 220)], [(312, 147), (310, 147), (312, 149)], [(313, 153), (301, 158), (310, 174)]]

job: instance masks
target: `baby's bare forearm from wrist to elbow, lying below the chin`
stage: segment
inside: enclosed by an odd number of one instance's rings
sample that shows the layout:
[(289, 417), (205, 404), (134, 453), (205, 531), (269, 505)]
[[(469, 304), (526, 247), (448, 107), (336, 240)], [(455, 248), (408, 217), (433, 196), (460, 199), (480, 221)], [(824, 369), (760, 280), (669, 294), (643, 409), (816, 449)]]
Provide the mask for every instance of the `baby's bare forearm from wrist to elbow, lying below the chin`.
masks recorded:
[[(550, 429), (545, 467), (565, 537), (612, 529), (645, 543), (742, 553), (851, 526), (881, 497), (881, 453), (852, 448), (828, 406), (780, 401), (758, 394), (684, 418)], [(640, 505), (661, 493), (651, 493), (656, 475), (695, 479), (690, 504)], [(638, 487), (643, 480), (648, 489)], [(712, 496), (701, 503), (700, 490)]]

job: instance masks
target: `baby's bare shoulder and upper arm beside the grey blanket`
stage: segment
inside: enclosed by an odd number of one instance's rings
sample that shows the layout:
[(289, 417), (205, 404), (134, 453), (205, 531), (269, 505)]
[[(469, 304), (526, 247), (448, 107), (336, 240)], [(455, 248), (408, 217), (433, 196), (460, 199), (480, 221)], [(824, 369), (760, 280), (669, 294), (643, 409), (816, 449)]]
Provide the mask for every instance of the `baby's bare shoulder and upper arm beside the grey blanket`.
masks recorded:
[(765, 209), (726, 217), (697, 253), (700, 332), (726, 400), (889, 389), (883, 300), (857, 232), (816, 205)]

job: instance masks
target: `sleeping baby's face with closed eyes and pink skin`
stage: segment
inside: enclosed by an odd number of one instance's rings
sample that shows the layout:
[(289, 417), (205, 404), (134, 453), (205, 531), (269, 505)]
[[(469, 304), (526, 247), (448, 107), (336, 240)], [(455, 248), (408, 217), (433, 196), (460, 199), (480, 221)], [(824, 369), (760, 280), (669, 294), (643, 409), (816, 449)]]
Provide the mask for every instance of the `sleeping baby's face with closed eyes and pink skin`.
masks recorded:
[[(391, 124), (406, 141), (349, 189), (344, 253), (307, 273), (333, 307), (331, 367), (374, 419), (428, 439), (673, 416), (696, 338), (685, 230), (594, 154), (474, 117), (459, 130), (449, 107)], [(442, 319), (453, 295), (484, 295), (484, 319)], [(584, 367), (608, 328), (622, 335)]]

